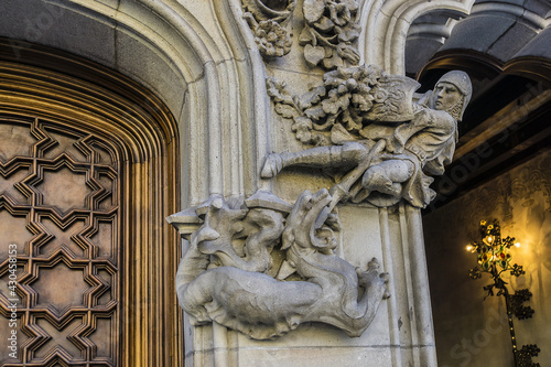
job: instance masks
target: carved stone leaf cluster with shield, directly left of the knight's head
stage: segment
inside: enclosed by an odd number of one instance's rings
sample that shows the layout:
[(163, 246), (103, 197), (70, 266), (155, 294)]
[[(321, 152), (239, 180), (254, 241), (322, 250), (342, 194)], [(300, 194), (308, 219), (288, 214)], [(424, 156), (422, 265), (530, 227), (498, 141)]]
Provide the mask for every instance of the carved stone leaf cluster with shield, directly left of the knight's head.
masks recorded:
[(276, 111), (292, 119), (296, 139), (326, 145), (363, 139), (374, 121), (413, 118), (412, 96), (419, 83), (388, 75), (375, 65), (341, 67), (325, 73), (323, 84), (303, 96), (293, 96), (284, 83), (267, 79)]

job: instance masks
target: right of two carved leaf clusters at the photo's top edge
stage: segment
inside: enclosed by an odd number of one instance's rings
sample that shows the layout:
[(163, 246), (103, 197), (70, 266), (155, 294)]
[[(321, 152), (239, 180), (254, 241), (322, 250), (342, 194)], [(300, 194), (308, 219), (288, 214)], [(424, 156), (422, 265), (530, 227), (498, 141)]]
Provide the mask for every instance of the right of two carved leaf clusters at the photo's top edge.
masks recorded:
[(310, 67), (322, 64), (326, 69), (357, 65), (355, 46), (359, 36), (356, 0), (304, 0), (304, 29), (299, 42)]

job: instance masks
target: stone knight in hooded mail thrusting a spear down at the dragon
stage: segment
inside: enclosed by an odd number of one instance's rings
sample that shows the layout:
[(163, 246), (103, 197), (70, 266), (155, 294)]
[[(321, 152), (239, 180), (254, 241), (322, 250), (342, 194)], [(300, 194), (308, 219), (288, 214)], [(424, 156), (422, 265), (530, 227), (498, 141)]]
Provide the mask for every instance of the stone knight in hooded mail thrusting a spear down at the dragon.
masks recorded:
[[(411, 83), (395, 88), (410, 86), (417, 88)], [(413, 96), (411, 100), (401, 100), (410, 105), (402, 108), (411, 111), (408, 114), (410, 120), (406, 120), (406, 114), (402, 114), (403, 119), (391, 115), (390, 121), (378, 116), (377, 121), (364, 121), (363, 140), (342, 141), (298, 153), (270, 154), (261, 176), (272, 177), (291, 165), (358, 168), (369, 160), (360, 170), (361, 180), (350, 182), (352, 186), (345, 188), (345, 198), (355, 203), (367, 199), (377, 206), (393, 205), (403, 198), (415, 207), (425, 207), (435, 195), (429, 187), (433, 179), (425, 172), (441, 175), (444, 165), (451, 162), (457, 142), (457, 122), (463, 118), (471, 95), (468, 75), (450, 72), (442, 76), (433, 90)]]

